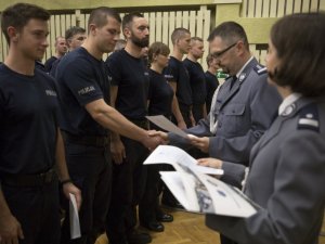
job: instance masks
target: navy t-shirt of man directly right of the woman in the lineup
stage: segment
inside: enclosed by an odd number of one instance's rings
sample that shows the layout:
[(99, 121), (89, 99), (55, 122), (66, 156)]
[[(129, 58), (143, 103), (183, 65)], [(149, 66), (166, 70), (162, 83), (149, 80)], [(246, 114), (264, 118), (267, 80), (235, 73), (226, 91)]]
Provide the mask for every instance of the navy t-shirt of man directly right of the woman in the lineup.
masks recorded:
[(165, 78), (169, 82), (177, 82), (178, 102), (184, 105), (192, 105), (192, 89), (190, 85), (190, 76), (183, 62), (170, 56), (168, 66), (164, 69)]

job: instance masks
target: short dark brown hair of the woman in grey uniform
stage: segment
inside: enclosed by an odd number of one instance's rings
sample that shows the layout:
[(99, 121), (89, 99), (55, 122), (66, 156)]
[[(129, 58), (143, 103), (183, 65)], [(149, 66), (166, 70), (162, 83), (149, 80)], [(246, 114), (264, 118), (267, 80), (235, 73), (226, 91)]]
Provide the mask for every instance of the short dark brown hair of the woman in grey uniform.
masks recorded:
[(325, 13), (297, 13), (277, 21), (271, 42), (280, 65), (269, 76), (306, 97), (325, 94)]

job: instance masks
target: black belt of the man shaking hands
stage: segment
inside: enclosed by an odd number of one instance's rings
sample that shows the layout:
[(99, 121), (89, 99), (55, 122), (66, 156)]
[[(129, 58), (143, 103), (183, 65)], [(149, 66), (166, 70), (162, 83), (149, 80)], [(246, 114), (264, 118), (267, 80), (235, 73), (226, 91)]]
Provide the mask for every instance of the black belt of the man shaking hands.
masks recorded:
[(61, 133), (65, 141), (76, 144), (93, 146), (106, 146), (109, 144), (109, 138), (105, 136), (75, 136), (65, 131), (61, 131)]

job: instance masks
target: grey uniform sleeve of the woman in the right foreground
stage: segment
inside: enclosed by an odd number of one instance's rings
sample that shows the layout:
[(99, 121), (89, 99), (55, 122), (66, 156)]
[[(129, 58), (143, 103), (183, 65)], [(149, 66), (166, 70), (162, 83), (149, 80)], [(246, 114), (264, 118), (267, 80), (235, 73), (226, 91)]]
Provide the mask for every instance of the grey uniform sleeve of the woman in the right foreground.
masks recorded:
[(246, 219), (208, 215), (207, 226), (243, 244), (315, 243), (325, 205), (324, 145), (314, 131), (291, 134), (278, 145), (266, 207)]

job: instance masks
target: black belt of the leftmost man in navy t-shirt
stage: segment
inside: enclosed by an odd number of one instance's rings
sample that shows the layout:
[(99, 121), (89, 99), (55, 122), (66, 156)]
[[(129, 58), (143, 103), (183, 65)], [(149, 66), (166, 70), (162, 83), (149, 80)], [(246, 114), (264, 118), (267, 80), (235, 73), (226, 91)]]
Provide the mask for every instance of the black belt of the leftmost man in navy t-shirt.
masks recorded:
[(57, 179), (57, 175), (54, 169), (50, 169), (47, 172), (41, 172), (36, 175), (1, 174), (1, 184), (6, 184), (11, 187), (23, 187), (23, 188), (41, 187), (51, 183), (56, 179)]

